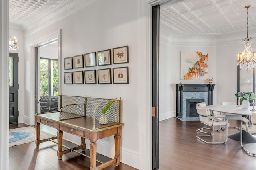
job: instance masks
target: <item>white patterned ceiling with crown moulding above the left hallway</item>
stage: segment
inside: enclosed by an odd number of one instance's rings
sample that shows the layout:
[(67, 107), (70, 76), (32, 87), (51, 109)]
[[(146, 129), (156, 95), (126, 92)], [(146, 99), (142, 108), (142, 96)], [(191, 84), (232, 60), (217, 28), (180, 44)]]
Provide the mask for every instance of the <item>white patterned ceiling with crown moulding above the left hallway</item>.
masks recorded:
[(9, 0), (10, 27), (42, 28), (94, 2), (96, 0)]

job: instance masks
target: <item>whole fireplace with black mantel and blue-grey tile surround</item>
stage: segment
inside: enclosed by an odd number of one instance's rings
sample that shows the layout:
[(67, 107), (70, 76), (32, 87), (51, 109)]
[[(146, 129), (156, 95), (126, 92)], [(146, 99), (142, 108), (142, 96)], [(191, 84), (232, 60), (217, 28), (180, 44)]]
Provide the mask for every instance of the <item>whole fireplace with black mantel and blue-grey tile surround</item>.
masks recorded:
[(176, 117), (197, 117), (197, 103), (205, 102), (206, 105), (212, 105), (215, 84), (176, 84), (176, 86)]

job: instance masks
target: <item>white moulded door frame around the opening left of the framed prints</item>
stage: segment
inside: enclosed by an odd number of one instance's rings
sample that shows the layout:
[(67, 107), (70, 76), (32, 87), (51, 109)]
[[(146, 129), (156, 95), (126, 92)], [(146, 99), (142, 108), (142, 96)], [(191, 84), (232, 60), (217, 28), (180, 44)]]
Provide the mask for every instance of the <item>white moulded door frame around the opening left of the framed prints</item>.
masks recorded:
[[(29, 42), (29, 59), (28, 59), (28, 65), (30, 75), (29, 75), (29, 98), (28, 98), (28, 117), (24, 119), (24, 123), (28, 125), (34, 125), (35, 124), (35, 47), (38, 47), (40, 45), (44, 45), (46, 43), (49, 43), (50, 41), (53, 41), (54, 39), (58, 39), (58, 59), (59, 59), (59, 75), (62, 71), (62, 30), (59, 29), (58, 31), (55, 31), (49, 35), (46, 35), (42, 38), (38, 38), (35, 41)], [(59, 94), (62, 92), (61, 84), (61, 76), (59, 76)]]

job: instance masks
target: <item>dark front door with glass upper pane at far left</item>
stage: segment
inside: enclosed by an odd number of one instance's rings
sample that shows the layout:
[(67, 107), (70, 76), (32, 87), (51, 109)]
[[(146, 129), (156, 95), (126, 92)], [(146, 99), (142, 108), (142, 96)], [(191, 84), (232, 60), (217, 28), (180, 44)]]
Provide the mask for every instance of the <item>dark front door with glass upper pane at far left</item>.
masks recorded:
[(9, 54), (9, 123), (18, 123), (18, 54)]

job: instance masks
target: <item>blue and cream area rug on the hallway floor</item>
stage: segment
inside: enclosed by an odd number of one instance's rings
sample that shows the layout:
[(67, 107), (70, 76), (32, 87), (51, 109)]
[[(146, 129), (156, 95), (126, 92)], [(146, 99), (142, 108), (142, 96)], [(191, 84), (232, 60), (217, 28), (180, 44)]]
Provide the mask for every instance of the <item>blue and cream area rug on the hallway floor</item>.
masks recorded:
[[(40, 139), (54, 137), (50, 133), (40, 131)], [(9, 147), (36, 141), (36, 129), (34, 127), (20, 127), (9, 130)]]

